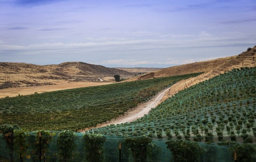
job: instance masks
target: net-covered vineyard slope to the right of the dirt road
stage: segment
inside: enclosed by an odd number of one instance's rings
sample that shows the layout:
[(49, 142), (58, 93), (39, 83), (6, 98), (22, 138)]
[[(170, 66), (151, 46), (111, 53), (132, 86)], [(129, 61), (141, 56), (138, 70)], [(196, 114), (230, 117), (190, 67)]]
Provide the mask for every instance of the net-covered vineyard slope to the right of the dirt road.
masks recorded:
[(211, 142), (256, 137), (256, 67), (233, 69), (180, 91), (132, 123), (90, 132)]

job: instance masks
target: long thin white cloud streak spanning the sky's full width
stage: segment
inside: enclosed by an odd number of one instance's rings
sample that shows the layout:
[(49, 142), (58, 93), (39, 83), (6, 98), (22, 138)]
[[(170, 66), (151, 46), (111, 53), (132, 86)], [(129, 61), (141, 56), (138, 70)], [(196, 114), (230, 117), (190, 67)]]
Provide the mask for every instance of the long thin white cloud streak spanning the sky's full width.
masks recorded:
[[(201, 38), (202, 37), (202, 38)], [(1, 51), (52, 51), (55, 50), (80, 50), (83, 51), (130, 51), (145, 49), (161, 48), (199, 48), (199, 47), (216, 47), (216, 46), (236, 46), (239, 44), (254, 44), (255, 41), (247, 39), (241, 40), (236, 36), (229, 37), (211, 37), (210, 34), (202, 32), (198, 38), (192, 39), (138, 39), (138, 40), (120, 40), (120, 41), (103, 41), (103, 42), (86, 42), (86, 43), (41, 43), (30, 44), (28, 46), (0, 44)]]

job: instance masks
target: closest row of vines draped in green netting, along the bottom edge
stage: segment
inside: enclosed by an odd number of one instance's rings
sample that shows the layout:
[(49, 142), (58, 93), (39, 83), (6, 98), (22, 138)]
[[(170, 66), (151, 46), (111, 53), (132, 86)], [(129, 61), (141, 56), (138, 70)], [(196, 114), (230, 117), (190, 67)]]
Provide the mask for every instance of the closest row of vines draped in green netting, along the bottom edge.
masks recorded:
[[(10, 132), (9, 132), (10, 133)], [(255, 144), (239, 143), (212, 143), (154, 139), (147, 136), (140, 137), (110, 137), (98, 134), (82, 134), (72, 131), (49, 132), (22, 132), (26, 134), (25, 140), (21, 136), (13, 136), (14, 140), (10, 149), (10, 141), (6, 136), (0, 140), (0, 161), (119, 161), (119, 144), (121, 143), (121, 160), (130, 161), (184, 161), (184, 159), (197, 159), (195, 161), (234, 161), (233, 152), (237, 151), (237, 158), (256, 160)], [(39, 135), (41, 134), (41, 144)], [(17, 140), (18, 139), (18, 140)], [(22, 137), (21, 137), (22, 139)], [(26, 144), (26, 150), (20, 151), (20, 144)], [(171, 145), (170, 145), (171, 144)], [(245, 146), (243, 146), (245, 145)], [(41, 147), (41, 148), (40, 148)], [(168, 149), (171, 147), (171, 149)], [(186, 149), (184, 149), (184, 148)], [(244, 155), (244, 148), (249, 152)], [(41, 151), (41, 154), (40, 154)], [(178, 151), (175, 155), (172, 152)], [(251, 153), (250, 153), (251, 151)], [(40, 156), (41, 155), (41, 156)], [(11, 158), (12, 156), (12, 158)], [(22, 159), (22, 160), (20, 160)], [(189, 161), (189, 160), (187, 160)]]

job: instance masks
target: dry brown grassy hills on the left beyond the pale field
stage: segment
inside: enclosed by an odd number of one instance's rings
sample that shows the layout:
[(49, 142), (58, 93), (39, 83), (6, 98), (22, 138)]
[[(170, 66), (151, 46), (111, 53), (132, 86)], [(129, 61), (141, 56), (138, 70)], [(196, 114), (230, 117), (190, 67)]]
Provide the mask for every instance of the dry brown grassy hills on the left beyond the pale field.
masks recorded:
[[(5, 82), (5, 73), (10, 81)], [(115, 68), (92, 65), (84, 62), (64, 62), (58, 65), (34, 65), (26, 63), (0, 62), (0, 89), (35, 85), (63, 84), (70, 81), (99, 81), (105, 76), (132, 76)]]

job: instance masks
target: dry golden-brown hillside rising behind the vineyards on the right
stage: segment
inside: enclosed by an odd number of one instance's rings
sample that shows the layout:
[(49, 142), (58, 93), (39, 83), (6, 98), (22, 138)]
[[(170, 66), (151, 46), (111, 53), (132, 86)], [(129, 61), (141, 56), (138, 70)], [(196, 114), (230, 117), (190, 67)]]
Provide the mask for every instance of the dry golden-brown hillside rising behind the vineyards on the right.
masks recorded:
[(215, 76), (225, 73), (225, 71), (229, 71), (233, 68), (256, 66), (255, 55), (256, 46), (239, 55), (167, 67), (161, 70), (143, 74), (141, 76), (133, 77), (127, 81), (145, 80), (157, 77), (166, 77), (197, 72), (205, 72), (205, 74), (207, 73), (209, 76)]

